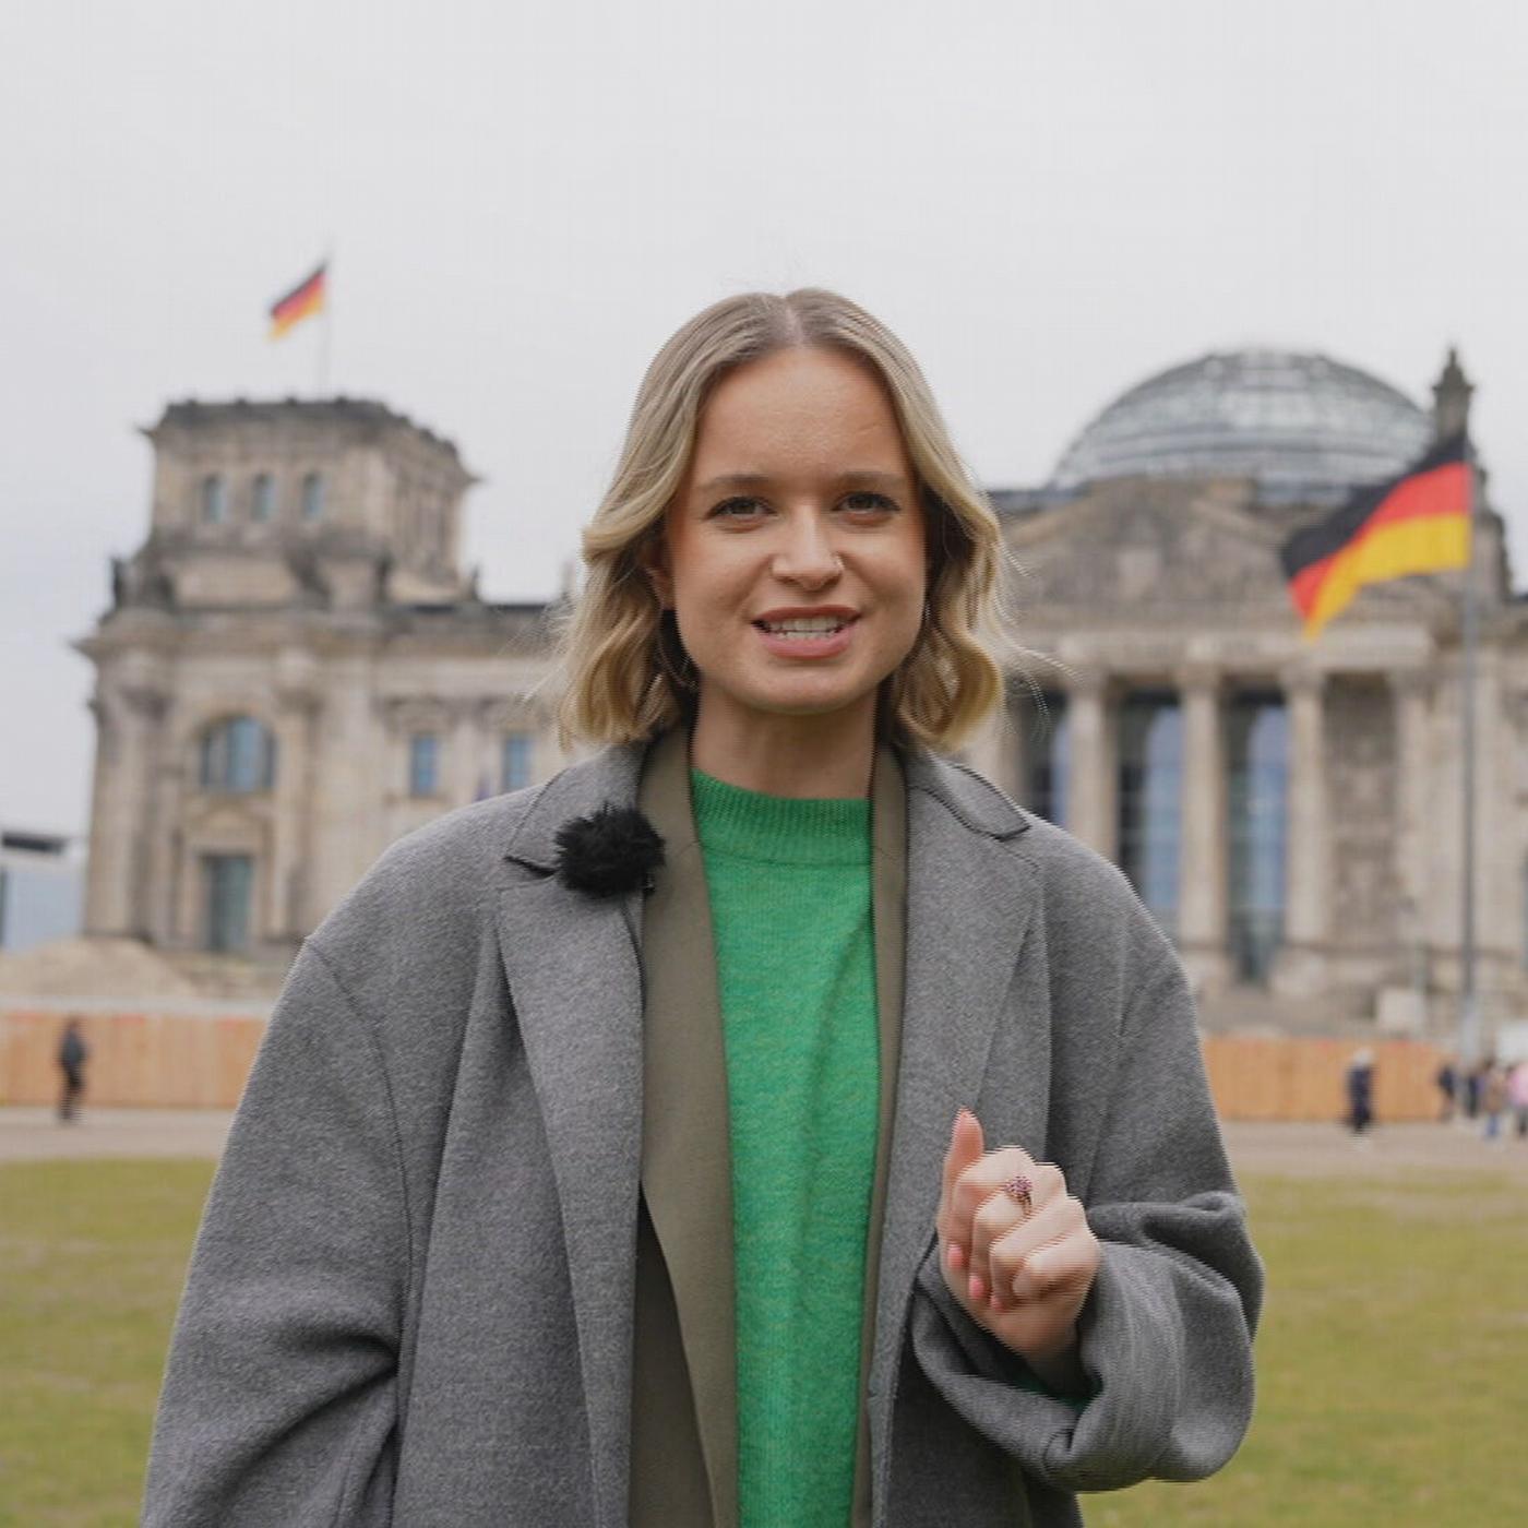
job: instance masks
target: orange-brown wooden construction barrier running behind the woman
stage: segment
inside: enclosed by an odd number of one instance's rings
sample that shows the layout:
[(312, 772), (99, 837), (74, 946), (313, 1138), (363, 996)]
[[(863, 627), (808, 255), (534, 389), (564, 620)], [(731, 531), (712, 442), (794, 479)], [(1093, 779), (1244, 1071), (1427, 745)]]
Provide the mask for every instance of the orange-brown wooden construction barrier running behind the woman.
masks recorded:
[[(156, 1012), (64, 1004), (0, 1005), (0, 1103), (53, 1103), (58, 1038), (78, 1015), (90, 1060), (86, 1105), (232, 1108), (264, 1033), (264, 1015)], [(1204, 1062), (1227, 1120), (1340, 1120), (1343, 1076), (1366, 1042), (1306, 1036), (1207, 1034)], [(1423, 1041), (1377, 1039), (1374, 1103), (1380, 1123), (1432, 1120), (1444, 1051)]]

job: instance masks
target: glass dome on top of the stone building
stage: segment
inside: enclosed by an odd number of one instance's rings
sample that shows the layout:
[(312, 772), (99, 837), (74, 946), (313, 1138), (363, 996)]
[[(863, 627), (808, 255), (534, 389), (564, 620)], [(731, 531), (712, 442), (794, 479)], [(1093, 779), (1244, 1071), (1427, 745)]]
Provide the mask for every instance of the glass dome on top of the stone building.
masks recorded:
[(1265, 503), (1342, 498), (1401, 472), (1432, 422), (1387, 382), (1326, 356), (1236, 350), (1132, 387), (1067, 448), (1051, 487), (1099, 478), (1245, 477)]

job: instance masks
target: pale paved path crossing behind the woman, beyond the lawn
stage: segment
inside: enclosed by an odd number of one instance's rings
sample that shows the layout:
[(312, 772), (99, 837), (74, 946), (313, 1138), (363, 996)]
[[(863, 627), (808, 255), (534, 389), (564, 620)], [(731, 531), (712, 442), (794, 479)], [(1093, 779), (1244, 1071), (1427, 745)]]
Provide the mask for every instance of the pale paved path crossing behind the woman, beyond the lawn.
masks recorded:
[[(60, 1125), (50, 1109), (0, 1108), (0, 1161), (57, 1157), (215, 1157), (231, 1114), (222, 1109), (86, 1109)], [(1238, 1172), (1389, 1177), (1416, 1170), (1516, 1172), (1528, 1180), (1528, 1141), (1497, 1144), (1452, 1125), (1380, 1126), (1355, 1141), (1335, 1125), (1227, 1125)]]

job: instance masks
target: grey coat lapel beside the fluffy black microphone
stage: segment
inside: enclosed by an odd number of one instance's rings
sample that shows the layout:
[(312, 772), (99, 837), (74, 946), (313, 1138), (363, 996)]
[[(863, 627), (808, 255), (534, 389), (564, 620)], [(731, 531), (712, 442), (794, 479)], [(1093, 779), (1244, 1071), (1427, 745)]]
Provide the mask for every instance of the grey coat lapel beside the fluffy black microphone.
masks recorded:
[(640, 894), (591, 897), (553, 876), (556, 830), (636, 796), (639, 750), (614, 750), (542, 792), (509, 847), (530, 871), (500, 894), (515, 1018), (562, 1207), (588, 1406), (596, 1517), (625, 1519), (631, 1302), (642, 1152)]

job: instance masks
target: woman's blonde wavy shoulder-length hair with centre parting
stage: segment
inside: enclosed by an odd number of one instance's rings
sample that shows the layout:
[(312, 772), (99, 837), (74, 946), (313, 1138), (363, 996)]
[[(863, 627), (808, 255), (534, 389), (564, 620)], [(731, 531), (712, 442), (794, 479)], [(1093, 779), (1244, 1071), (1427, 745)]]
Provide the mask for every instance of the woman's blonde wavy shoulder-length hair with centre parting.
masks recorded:
[(636, 743), (692, 717), (694, 665), (643, 555), (663, 535), (717, 384), (793, 345), (842, 351), (874, 370), (918, 475), (929, 532), (924, 620), (885, 683), (885, 726), (898, 741), (952, 749), (1001, 700), (1002, 538), (917, 362), (885, 324), (834, 292), (750, 292), (697, 313), (642, 379), (614, 480), (584, 530), (588, 571), (561, 633), (564, 741)]

